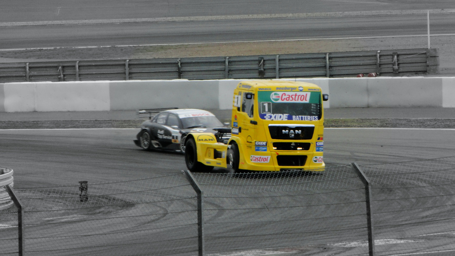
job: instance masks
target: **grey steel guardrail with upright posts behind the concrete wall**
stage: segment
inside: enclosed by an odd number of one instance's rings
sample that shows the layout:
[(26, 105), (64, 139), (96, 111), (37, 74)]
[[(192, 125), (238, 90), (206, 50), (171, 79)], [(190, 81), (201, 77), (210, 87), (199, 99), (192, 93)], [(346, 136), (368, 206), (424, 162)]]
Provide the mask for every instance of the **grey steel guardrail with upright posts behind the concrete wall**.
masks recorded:
[(438, 49), (0, 63), (0, 82), (271, 79), (435, 74)]

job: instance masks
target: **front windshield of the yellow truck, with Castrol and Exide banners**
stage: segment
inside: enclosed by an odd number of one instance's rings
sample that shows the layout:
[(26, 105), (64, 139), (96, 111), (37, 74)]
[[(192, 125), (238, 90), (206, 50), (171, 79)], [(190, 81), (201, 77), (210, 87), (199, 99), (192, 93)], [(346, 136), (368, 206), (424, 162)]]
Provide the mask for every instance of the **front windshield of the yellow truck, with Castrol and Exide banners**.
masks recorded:
[(258, 92), (259, 117), (264, 120), (321, 119), (321, 92)]

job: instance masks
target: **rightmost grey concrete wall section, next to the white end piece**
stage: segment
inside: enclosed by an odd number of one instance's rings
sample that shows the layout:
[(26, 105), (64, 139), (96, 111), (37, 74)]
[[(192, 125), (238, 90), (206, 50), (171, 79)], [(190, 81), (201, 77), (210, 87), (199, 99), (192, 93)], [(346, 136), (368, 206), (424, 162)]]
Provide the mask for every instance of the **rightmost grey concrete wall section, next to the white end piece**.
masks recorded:
[(442, 107), (440, 77), (377, 77), (367, 82), (370, 108)]

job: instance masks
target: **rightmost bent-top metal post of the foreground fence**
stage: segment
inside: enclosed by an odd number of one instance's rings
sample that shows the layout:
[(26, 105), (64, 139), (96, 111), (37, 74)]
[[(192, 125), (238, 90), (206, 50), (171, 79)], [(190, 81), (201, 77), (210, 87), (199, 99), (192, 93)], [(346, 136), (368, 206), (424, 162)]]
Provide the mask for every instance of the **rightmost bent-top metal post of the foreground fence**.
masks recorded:
[(373, 220), (371, 217), (371, 201), (373, 200), (373, 194), (371, 193), (371, 183), (357, 163), (352, 163), (351, 165), (354, 171), (357, 173), (357, 175), (359, 175), (359, 179), (365, 186), (365, 204), (368, 225), (368, 254), (369, 256), (374, 256), (374, 233)]

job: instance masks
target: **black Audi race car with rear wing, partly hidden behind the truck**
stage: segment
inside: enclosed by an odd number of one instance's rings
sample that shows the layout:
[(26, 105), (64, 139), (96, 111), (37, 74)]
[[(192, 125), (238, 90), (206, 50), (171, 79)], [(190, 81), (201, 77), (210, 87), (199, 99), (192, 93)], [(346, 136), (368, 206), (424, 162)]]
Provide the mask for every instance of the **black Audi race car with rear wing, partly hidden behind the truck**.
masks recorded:
[[(141, 113), (141, 111), (139, 112)], [(143, 110), (142, 113), (152, 113)], [(143, 149), (160, 149), (185, 153), (188, 133), (218, 133), (226, 128), (214, 114), (201, 109), (171, 109), (157, 113), (141, 125), (134, 143)], [(231, 137), (223, 134), (222, 140)]]

